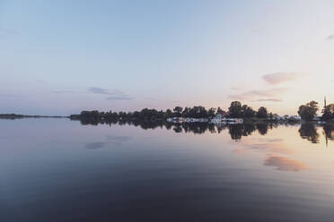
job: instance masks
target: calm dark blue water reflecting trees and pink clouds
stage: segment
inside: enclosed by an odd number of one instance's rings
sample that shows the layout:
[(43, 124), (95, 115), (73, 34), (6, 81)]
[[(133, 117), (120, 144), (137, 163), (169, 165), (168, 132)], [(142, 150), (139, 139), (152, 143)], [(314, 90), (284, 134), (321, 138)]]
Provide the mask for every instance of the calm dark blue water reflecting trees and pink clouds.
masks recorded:
[(0, 221), (334, 221), (329, 127), (143, 128), (0, 120)]

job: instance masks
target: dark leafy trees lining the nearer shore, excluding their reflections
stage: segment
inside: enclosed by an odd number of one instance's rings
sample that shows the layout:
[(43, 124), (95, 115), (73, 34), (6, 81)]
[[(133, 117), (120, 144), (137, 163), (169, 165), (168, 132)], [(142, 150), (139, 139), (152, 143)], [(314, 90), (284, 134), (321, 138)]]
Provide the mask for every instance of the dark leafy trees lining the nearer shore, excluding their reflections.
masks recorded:
[[(320, 110), (318, 102), (311, 101), (298, 108), (298, 115), (305, 121), (312, 121), (317, 116), (317, 112)], [(334, 104), (327, 105), (321, 110), (321, 119), (324, 121), (334, 120)], [(215, 115), (222, 115), (230, 118), (259, 118), (275, 120), (278, 115), (268, 112), (266, 107), (259, 107), (255, 110), (248, 105), (242, 105), (240, 101), (233, 101), (228, 107), (227, 111), (224, 111), (221, 107), (206, 107), (195, 106), (195, 107), (174, 107), (173, 109), (156, 110), (154, 108), (143, 108), (140, 111), (135, 112), (99, 112), (93, 111), (82, 111), (80, 115), (70, 115), (71, 119), (88, 119), (88, 120), (100, 120), (100, 119), (142, 119), (142, 120), (165, 120), (172, 117), (183, 117), (183, 118), (213, 118)]]

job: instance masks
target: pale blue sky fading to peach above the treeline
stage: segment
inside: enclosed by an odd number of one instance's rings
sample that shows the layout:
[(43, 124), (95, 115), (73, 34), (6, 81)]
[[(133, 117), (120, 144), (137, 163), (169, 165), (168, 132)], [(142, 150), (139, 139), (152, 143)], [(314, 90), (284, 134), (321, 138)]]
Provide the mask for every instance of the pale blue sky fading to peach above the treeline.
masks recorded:
[(0, 1), (0, 113), (334, 103), (334, 1)]

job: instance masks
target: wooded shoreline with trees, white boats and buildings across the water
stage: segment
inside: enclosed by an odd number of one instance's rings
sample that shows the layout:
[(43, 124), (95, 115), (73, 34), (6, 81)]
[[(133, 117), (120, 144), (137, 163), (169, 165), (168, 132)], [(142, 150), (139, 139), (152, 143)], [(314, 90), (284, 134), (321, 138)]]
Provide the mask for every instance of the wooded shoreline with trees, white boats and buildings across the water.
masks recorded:
[(202, 106), (195, 107), (174, 107), (172, 110), (158, 111), (156, 109), (144, 108), (135, 112), (99, 112), (82, 111), (80, 115), (70, 115), (75, 120), (89, 121), (165, 121), (173, 124), (183, 123), (207, 123), (207, 124), (252, 124), (252, 123), (278, 123), (278, 124), (334, 124), (334, 104), (326, 105), (321, 110), (322, 115), (317, 115), (320, 110), (318, 103), (311, 101), (298, 108), (298, 115), (277, 115), (268, 112), (266, 107), (259, 107), (254, 110), (252, 107), (242, 105), (240, 101), (233, 101), (224, 111), (220, 107), (211, 107), (208, 110)]

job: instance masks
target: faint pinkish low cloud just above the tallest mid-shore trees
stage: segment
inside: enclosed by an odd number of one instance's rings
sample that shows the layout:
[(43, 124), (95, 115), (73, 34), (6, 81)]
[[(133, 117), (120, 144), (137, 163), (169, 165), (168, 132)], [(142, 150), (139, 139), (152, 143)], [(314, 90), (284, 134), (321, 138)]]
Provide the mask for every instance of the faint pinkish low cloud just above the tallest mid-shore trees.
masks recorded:
[(270, 90), (251, 90), (241, 94), (229, 95), (228, 98), (247, 101), (281, 102), (282, 99), (277, 98), (277, 96), (286, 92), (286, 90), (286, 88), (274, 88)]

